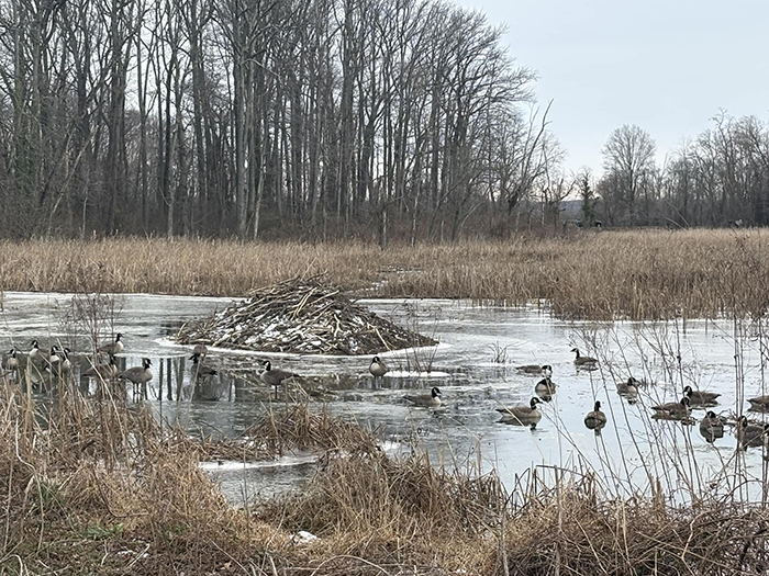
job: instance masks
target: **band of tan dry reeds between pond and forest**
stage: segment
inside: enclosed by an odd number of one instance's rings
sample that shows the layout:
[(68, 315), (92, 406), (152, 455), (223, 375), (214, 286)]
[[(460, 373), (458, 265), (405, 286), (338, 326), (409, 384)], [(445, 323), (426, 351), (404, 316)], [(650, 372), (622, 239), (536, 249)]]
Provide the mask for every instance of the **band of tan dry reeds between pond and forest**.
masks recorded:
[(629, 230), (456, 245), (272, 244), (123, 238), (0, 244), (0, 287), (242, 296), (325, 274), (372, 296), (549, 301), (566, 318), (762, 315), (764, 230)]

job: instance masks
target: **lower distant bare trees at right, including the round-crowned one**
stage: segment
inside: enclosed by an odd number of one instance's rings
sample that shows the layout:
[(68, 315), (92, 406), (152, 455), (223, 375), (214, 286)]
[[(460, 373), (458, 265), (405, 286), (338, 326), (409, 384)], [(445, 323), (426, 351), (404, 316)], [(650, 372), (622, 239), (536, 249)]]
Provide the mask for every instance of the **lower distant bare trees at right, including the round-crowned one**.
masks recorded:
[[(593, 213), (614, 226), (766, 226), (769, 126), (725, 113), (657, 166), (651, 136), (623, 126), (603, 148)], [(583, 194), (584, 196), (584, 194)]]

